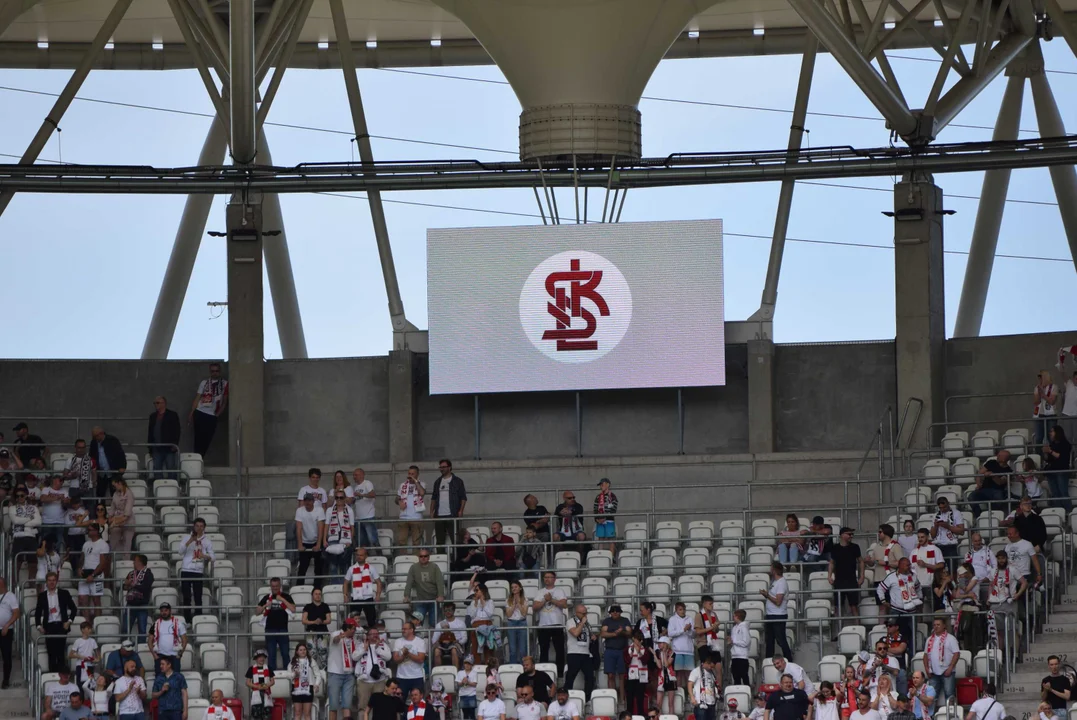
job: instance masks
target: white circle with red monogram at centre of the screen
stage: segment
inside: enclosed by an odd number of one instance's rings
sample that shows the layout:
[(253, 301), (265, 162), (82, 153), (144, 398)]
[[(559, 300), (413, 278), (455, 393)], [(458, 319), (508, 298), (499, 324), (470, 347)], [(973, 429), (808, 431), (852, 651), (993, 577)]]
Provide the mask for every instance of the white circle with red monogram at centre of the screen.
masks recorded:
[(632, 293), (617, 266), (568, 251), (538, 264), (520, 292), (520, 325), (559, 363), (590, 363), (617, 347), (632, 321)]

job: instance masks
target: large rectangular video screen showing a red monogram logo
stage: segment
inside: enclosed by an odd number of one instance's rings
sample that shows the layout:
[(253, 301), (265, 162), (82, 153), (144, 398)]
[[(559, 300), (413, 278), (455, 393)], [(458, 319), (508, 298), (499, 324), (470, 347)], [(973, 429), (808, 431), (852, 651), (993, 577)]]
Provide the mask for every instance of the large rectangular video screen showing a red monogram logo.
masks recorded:
[(430, 392), (726, 382), (722, 221), (426, 231)]

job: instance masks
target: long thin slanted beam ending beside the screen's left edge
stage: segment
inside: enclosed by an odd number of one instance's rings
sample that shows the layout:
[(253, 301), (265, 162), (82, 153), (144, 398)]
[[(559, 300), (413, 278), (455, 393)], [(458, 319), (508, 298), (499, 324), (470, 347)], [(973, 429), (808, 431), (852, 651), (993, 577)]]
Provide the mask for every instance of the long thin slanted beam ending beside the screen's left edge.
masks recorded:
[[(333, 14), (333, 31), (336, 34), (340, 65), (345, 68), (344, 84), (348, 89), (359, 157), (364, 165), (373, 164), (374, 153), (370, 150), (370, 136), (366, 127), (366, 113), (363, 111), (363, 96), (359, 91), (359, 76), (352, 69), (355, 67), (355, 60), (352, 58), (351, 36), (348, 33), (348, 18), (344, 14), (344, 3), (340, 0), (330, 0), (330, 11)], [(389, 226), (386, 224), (386, 211), (381, 206), (381, 193), (374, 188), (366, 194), (366, 198), (370, 204), (370, 221), (374, 223), (374, 237), (381, 259), (381, 276), (389, 298), (389, 316), (392, 320), (393, 331), (401, 333), (407, 329), (407, 319), (404, 315), (404, 301), (401, 299), (401, 290), (396, 282), (396, 265), (393, 263), (392, 246), (389, 244)]]

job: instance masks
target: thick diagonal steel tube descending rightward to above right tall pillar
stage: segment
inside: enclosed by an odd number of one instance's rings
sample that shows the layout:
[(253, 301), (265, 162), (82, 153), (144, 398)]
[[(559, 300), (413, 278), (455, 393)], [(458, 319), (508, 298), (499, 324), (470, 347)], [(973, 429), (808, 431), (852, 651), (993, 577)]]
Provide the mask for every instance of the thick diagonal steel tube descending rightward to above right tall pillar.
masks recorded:
[(805, 25), (826, 45), (834, 59), (844, 68), (882, 116), (898, 135), (905, 137), (915, 131), (917, 118), (886, 81), (879, 74), (856, 44), (845, 37), (845, 31), (815, 0), (789, 0)]

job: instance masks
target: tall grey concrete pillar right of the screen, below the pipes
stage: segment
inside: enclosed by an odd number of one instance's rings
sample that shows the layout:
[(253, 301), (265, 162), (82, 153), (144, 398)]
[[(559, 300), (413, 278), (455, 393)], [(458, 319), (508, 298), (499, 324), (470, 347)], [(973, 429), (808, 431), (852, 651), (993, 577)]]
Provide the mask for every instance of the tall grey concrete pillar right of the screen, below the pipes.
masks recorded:
[(942, 420), (946, 295), (942, 273), (942, 189), (929, 175), (906, 175), (894, 185), (894, 287), (897, 407), (910, 397), (924, 411), (909, 438), (931, 447), (928, 426)]

